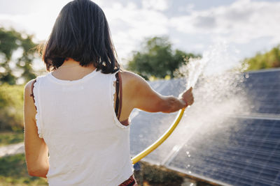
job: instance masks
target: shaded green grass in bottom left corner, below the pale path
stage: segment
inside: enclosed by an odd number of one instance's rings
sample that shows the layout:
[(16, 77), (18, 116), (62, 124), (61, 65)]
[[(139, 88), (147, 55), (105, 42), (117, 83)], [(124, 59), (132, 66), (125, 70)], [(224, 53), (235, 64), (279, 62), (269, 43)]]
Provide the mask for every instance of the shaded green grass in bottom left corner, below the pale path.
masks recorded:
[(29, 176), (25, 155), (18, 154), (0, 158), (0, 185), (48, 185), (45, 178)]

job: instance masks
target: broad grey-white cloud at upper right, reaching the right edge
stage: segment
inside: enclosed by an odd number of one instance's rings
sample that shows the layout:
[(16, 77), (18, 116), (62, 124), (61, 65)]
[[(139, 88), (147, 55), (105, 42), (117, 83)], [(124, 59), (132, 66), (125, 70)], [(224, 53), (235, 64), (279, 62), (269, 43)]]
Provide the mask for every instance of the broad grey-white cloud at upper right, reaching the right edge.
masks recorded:
[(183, 33), (208, 33), (213, 40), (247, 43), (259, 37), (280, 41), (280, 2), (235, 1), (229, 6), (192, 10), (172, 17), (172, 26)]

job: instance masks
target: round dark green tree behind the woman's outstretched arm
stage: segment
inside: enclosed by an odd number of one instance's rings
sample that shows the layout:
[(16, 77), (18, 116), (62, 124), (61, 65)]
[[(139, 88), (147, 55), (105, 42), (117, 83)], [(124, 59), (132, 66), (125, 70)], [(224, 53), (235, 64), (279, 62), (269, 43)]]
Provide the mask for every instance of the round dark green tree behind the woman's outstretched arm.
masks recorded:
[(165, 78), (167, 75), (174, 78), (176, 69), (186, 65), (190, 57), (195, 58), (197, 55), (179, 49), (172, 50), (172, 43), (167, 37), (148, 38), (141, 51), (133, 52), (128, 70), (146, 78), (151, 76)]

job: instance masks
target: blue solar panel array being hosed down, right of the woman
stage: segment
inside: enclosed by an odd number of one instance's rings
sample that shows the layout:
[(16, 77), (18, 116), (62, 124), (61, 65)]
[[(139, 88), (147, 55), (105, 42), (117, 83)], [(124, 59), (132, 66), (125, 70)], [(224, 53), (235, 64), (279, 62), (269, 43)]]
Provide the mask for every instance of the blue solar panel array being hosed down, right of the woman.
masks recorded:
[[(280, 70), (246, 72), (244, 77), (236, 86), (240, 91), (232, 93), (219, 94), (223, 87), (215, 84), (212, 95), (211, 87), (201, 88), (205, 84), (200, 82), (196, 103), (179, 127), (144, 160), (230, 185), (280, 185)], [(151, 82), (162, 95), (174, 96), (184, 84), (184, 79)], [(176, 117), (134, 112), (132, 155), (158, 139)]]

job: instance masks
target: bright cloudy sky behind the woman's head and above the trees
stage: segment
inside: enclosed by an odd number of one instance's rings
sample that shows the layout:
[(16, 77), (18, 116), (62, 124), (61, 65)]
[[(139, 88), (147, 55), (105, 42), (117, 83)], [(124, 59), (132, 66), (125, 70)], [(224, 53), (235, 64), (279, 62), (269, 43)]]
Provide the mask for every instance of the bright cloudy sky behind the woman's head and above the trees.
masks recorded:
[[(0, 26), (47, 40), (67, 0), (0, 0)], [(98, 0), (121, 63), (145, 38), (168, 36), (174, 49), (203, 54), (223, 42), (238, 58), (280, 44), (280, 0)]]

